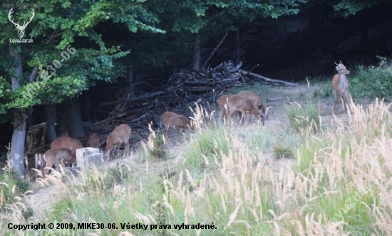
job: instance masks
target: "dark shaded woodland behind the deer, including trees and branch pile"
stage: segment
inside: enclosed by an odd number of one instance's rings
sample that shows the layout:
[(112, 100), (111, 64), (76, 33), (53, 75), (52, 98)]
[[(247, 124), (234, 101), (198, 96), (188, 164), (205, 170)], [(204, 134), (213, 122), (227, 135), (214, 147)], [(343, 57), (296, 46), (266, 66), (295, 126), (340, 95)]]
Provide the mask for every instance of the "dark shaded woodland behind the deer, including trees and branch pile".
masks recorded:
[[(104, 140), (121, 123), (136, 143), (163, 112), (215, 102), (230, 87), (295, 86), (333, 75), (334, 61), (372, 65), (392, 53), (390, 1), (123, 4), (38, 6), (24, 35), (31, 45), (9, 43), (17, 31), (11, 8), (1, 9), (2, 161), (8, 152), (31, 158), (64, 134), (83, 140), (95, 129)], [(21, 22), (31, 17), (27, 7), (14, 11)], [(51, 73), (70, 46), (75, 53)], [(43, 81), (42, 72), (53, 76)]]

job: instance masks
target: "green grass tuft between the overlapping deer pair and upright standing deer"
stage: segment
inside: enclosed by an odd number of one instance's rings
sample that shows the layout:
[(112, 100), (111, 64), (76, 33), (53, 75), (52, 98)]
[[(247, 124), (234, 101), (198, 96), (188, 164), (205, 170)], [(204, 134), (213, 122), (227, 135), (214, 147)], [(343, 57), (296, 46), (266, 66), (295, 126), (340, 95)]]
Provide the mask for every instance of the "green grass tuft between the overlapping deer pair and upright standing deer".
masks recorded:
[(286, 114), (290, 125), (299, 132), (316, 132), (320, 126), (319, 109), (312, 102), (299, 104), (293, 102), (286, 106)]

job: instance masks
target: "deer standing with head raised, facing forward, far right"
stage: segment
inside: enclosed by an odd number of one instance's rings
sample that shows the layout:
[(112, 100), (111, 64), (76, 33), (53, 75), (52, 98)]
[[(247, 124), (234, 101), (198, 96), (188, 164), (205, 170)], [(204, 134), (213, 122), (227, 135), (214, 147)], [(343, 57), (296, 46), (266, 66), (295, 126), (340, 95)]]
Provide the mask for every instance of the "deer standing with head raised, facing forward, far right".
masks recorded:
[(347, 105), (349, 106), (351, 114), (353, 114), (351, 110), (351, 95), (349, 92), (349, 81), (347, 81), (346, 75), (349, 75), (350, 71), (346, 69), (346, 67), (341, 63), (336, 64), (336, 71), (338, 72), (332, 78), (332, 92), (334, 93), (335, 103), (334, 108), (332, 109), (332, 114), (335, 114), (337, 105), (340, 103), (340, 100), (343, 100), (344, 111), (347, 112)]

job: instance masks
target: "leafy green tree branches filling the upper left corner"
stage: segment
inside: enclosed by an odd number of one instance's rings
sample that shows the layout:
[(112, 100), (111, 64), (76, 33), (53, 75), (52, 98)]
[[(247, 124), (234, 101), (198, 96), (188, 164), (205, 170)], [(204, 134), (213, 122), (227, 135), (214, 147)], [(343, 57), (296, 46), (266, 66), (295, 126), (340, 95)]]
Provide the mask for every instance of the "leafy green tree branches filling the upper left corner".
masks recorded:
[[(21, 8), (14, 7), (13, 17), (20, 22), (29, 20), (31, 11), (23, 6), (29, 1), (20, 1)], [(121, 5), (122, 7), (117, 7)], [(112, 42), (105, 42), (98, 30), (100, 24), (117, 23), (129, 31), (164, 33), (154, 25), (159, 22), (145, 1), (46, 1), (32, 6), (35, 16), (26, 28), (24, 38), (34, 43), (13, 43), (16, 53), (21, 54), (25, 74), (16, 77), (19, 89), (11, 92), (11, 77), (14, 74), (14, 60), (9, 55), (9, 38), (16, 38), (16, 28), (8, 20), (9, 9), (0, 9), (0, 114), (6, 109), (31, 107), (48, 102), (62, 102), (68, 97), (80, 95), (83, 90), (95, 85), (96, 80), (112, 82), (125, 75), (120, 63), (130, 53)], [(4, 30), (3, 30), (4, 29)], [(108, 43), (112, 45), (108, 45)], [(70, 51), (70, 46), (73, 50)], [(24, 53), (25, 51), (29, 53)], [(30, 82), (33, 68), (38, 68), (36, 81)], [(46, 74), (46, 75), (45, 75)], [(48, 77), (49, 76), (49, 77)], [(6, 97), (4, 96), (6, 95)], [(1, 122), (9, 117), (1, 116)]]

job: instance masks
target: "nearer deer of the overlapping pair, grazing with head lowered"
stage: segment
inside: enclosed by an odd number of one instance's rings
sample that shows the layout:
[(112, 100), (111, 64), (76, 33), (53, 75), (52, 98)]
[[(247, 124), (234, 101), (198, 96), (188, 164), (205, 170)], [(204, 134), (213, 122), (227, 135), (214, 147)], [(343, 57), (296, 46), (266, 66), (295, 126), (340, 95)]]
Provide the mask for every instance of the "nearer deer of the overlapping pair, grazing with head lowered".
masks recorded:
[(241, 112), (239, 124), (244, 120), (245, 112), (250, 112), (264, 125), (265, 114), (257, 109), (252, 100), (249, 100), (247, 97), (232, 95), (227, 99), (227, 105), (229, 107), (229, 117), (233, 118), (236, 111)]

